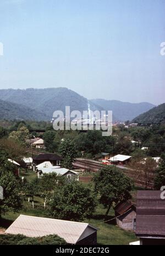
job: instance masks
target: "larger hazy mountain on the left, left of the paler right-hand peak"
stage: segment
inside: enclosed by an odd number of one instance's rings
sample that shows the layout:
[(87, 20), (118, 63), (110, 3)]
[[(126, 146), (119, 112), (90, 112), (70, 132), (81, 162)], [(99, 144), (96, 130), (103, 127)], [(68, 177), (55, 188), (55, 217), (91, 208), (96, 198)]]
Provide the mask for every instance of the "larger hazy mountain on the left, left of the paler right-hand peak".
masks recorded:
[[(53, 112), (61, 110), (65, 112), (65, 106), (70, 106), (70, 111), (79, 110), (83, 112), (88, 109), (88, 100), (78, 93), (65, 87), (26, 90), (0, 90), (0, 99), (18, 103), (26, 107), (42, 111), (50, 119)], [(99, 106), (91, 103), (91, 110), (102, 110)]]

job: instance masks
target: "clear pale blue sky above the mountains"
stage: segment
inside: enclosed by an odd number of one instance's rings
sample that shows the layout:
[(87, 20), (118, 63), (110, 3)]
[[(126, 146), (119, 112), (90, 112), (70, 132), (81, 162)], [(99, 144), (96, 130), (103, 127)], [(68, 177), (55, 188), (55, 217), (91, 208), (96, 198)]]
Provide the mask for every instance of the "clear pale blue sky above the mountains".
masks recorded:
[(165, 0), (1, 0), (0, 88), (164, 102)]

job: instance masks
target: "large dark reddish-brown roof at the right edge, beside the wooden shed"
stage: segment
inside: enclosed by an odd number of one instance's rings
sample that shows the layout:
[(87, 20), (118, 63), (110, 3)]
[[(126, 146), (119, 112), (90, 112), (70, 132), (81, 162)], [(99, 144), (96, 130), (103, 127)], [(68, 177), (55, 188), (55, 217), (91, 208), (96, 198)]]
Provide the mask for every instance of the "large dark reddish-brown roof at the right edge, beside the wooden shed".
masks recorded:
[(165, 200), (162, 191), (138, 191), (136, 235), (165, 237)]

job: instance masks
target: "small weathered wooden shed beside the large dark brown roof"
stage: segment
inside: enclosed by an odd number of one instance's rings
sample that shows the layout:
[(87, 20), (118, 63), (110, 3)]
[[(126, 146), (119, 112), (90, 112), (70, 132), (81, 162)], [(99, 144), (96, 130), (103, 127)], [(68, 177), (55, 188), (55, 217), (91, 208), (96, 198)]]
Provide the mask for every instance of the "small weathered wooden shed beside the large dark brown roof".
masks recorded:
[(115, 208), (117, 225), (125, 230), (136, 228), (136, 207), (130, 201), (121, 202)]

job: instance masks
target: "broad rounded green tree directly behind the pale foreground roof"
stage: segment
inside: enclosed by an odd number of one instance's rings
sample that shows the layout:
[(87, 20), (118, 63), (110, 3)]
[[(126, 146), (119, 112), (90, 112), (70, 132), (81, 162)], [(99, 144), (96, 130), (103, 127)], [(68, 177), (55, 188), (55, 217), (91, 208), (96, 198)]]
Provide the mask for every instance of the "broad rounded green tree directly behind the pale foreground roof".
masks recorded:
[(54, 218), (81, 221), (91, 217), (95, 207), (94, 192), (78, 181), (72, 181), (54, 193), (48, 212)]

